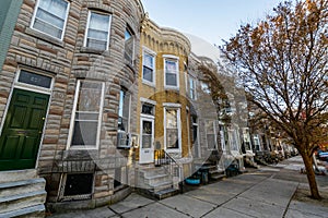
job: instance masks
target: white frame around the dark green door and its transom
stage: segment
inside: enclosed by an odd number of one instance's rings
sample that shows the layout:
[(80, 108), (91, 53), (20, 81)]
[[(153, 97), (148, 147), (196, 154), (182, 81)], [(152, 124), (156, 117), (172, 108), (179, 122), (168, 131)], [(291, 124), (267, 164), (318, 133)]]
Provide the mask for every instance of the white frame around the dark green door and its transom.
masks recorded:
[[(49, 88), (44, 88), (44, 87), (40, 87), (40, 86), (36, 86), (36, 85), (31, 85), (31, 84), (19, 82), (19, 78), (20, 78), (20, 75), (21, 75), (21, 70), (24, 70), (24, 71), (27, 71), (27, 72), (31, 72), (31, 73), (34, 73), (34, 74), (46, 75), (48, 77), (51, 77), (50, 87)], [(22, 89), (22, 90), (27, 90), (27, 92), (33, 92), (33, 93), (39, 93), (39, 94), (44, 94), (44, 95), (49, 95), (48, 107), (46, 109), (45, 122), (44, 122), (44, 126), (43, 126), (43, 134), (40, 136), (40, 142), (39, 142), (39, 145), (38, 145), (37, 157), (35, 159), (35, 167), (34, 167), (34, 169), (37, 169), (37, 167), (38, 167), (38, 159), (39, 159), (39, 154), (40, 154), (40, 148), (42, 148), (40, 145), (43, 144), (43, 141), (44, 141), (45, 130), (46, 130), (48, 114), (49, 114), (49, 109), (50, 109), (50, 102), (51, 102), (51, 98), (52, 98), (51, 93), (52, 93), (52, 88), (54, 88), (54, 84), (55, 84), (55, 80), (54, 78), (55, 78), (55, 75), (51, 74), (51, 73), (46, 73), (46, 72), (40, 72), (40, 71), (37, 71), (37, 70), (33, 70), (32, 68), (28, 68), (28, 66), (26, 66), (26, 68), (19, 68), (17, 71), (16, 71), (14, 84), (12, 85), (10, 94), (8, 96), (8, 101), (7, 101), (7, 105), (5, 105), (5, 108), (4, 108), (4, 112), (3, 112), (3, 117), (2, 117), (2, 120), (1, 120), (1, 123), (0, 123), (0, 135), (1, 135), (4, 122), (5, 122), (5, 119), (7, 119), (7, 114), (8, 114), (10, 105), (11, 105), (12, 95), (13, 95), (14, 89)]]

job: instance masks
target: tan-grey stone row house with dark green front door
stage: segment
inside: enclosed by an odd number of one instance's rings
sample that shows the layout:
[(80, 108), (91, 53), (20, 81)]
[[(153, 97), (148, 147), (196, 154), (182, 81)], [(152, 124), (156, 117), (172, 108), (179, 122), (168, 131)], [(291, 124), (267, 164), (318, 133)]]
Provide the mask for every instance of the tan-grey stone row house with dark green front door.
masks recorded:
[[(46, 194), (50, 209), (125, 197), (121, 181), (134, 181), (132, 154), (117, 149), (117, 137), (122, 99), (137, 110), (141, 1), (4, 3), (13, 15), (1, 19), (12, 31), (1, 31), (8, 48), (0, 56), (0, 183), (26, 189), (9, 192), (12, 206), (0, 216), (42, 213)], [(137, 132), (130, 114), (129, 131)]]

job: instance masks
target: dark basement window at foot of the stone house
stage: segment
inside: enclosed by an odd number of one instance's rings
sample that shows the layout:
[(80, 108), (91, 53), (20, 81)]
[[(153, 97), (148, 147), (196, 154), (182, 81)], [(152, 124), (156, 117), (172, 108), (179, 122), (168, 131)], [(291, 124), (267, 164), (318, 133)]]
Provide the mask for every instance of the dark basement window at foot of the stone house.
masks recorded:
[(93, 187), (93, 173), (66, 174), (65, 199), (90, 199)]

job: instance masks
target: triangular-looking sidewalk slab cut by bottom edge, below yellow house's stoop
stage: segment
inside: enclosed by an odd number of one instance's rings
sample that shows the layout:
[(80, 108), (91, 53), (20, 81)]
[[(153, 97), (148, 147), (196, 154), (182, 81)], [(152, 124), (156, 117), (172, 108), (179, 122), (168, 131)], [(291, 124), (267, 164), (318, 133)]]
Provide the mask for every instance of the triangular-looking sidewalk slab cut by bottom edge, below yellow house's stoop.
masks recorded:
[(190, 216), (184, 215), (169, 207), (166, 207), (160, 203), (150, 204), (142, 208), (131, 210), (121, 215), (124, 218), (153, 218), (153, 217), (167, 217), (167, 218), (190, 218)]

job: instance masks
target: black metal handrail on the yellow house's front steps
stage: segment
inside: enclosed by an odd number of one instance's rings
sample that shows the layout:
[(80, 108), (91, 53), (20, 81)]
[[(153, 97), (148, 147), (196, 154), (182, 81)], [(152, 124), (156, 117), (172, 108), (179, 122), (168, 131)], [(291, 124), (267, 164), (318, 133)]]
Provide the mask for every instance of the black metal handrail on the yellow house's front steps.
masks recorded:
[(155, 166), (164, 167), (171, 175), (180, 178), (180, 166), (164, 149), (155, 149)]

